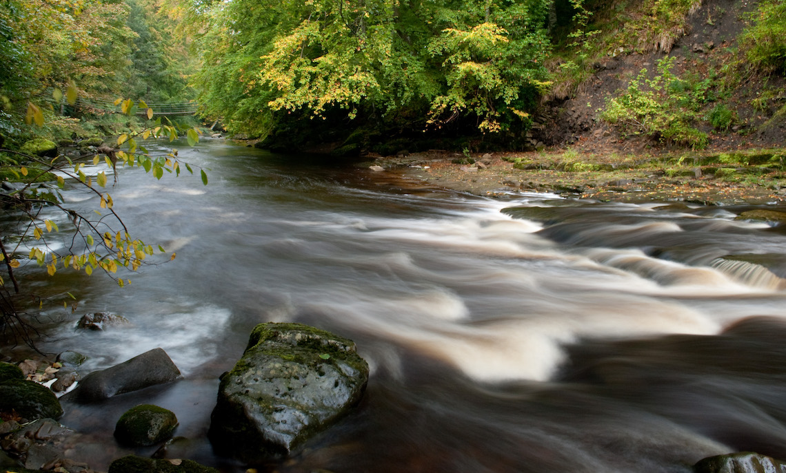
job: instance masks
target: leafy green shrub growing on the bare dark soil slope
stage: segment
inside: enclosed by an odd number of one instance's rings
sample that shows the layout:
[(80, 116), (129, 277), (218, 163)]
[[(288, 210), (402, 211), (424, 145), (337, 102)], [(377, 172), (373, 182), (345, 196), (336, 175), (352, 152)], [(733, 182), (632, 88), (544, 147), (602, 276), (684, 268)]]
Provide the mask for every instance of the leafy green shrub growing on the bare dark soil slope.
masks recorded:
[(671, 72), (673, 57), (658, 61), (655, 78), (642, 70), (622, 96), (609, 100), (601, 115), (622, 133), (644, 134), (665, 143), (693, 148), (707, 146), (707, 134), (694, 128), (696, 94)]

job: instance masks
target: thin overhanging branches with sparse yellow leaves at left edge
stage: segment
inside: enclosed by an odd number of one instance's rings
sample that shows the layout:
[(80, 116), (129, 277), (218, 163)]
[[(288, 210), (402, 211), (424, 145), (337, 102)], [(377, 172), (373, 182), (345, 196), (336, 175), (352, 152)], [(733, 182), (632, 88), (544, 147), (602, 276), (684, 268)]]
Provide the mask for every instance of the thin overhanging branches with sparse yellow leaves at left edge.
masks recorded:
[[(134, 104), (132, 100), (118, 100), (118, 104), (121, 103), (123, 111), (127, 113), (135, 107), (147, 108), (143, 102)], [(152, 110), (148, 110), (149, 115), (152, 115)], [(114, 172), (118, 167), (137, 166), (152, 173), (156, 179), (161, 179), (165, 171), (177, 176), (184, 167), (193, 173), (192, 166), (179, 160), (174, 151), (166, 155), (152, 155), (137, 142), (140, 137), (146, 140), (167, 136), (174, 140), (180, 131), (176, 126), (162, 124), (159, 118), (154, 126), (138, 135), (119, 136), (117, 148), (100, 147), (97, 154), (78, 160), (64, 155), (42, 158), (0, 149), (6, 156), (12, 157), (0, 161), (0, 172), (16, 176), (20, 182), (17, 187), (6, 184), (0, 191), (3, 224), (0, 264), (4, 267), (4, 274), (0, 276), (0, 328), (4, 336), (33, 346), (35, 326), (30, 323), (30, 313), (19, 308), (20, 303), (24, 303), (21, 307), (29, 307), (31, 302), (42, 307), (45, 303), (54, 302), (42, 293), (24, 290), (17, 276), (21, 268), (37, 265), (45, 268), (49, 275), (69, 269), (92, 275), (94, 271), (100, 270), (123, 287), (130, 279), (124, 279), (123, 275), (118, 275), (118, 271), (137, 271), (141, 265), (149, 264), (149, 258), (156, 253), (165, 253), (161, 246), (153, 247), (132, 237), (130, 229), (113, 209), (112, 195), (107, 189), (107, 173), (102, 171), (92, 178), (86, 176), (83, 166), (86, 161), (94, 165), (105, 162), (108, 169)], [(188, 129), (186, 136), (192, 145), (199, 140), (196, 129)], [(203, 183), (208, 184), (204, 169), (200, 169), (200, 174)], [(66, 187), (97, 195), (100, 209), (96, 209), (93, 215), (70, 208), (60, 194), (60, 190)], [(53, 219), (42, 217), (42, 210), (46, 208), (58, 209), (67, 217), (68, 228), (63, 229), (64, 235), (60, 234), (61, 229)], [(53, 249), (56, 246), (50, 246), (50, 241), (59, 234), (63, 235), (66, 244), (64, 249)], [(169, 260), (174, 257), (174, 253), (171, 253)], [(72, 293), (59, 294), (57, 297), (61, 298), (60, 302), (66, 307), (69, 302), (76, 303)]]

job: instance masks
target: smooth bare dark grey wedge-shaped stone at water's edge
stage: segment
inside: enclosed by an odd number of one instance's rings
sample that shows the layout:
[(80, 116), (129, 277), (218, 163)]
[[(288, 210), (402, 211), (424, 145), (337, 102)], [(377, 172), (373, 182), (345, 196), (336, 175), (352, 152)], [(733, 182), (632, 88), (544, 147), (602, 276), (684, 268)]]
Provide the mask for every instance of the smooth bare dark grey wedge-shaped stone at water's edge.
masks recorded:
[(174, 366), (167, 352), (153, 348), (127, 362), (90, 373), (64, 398), (77, 402), (98, 401), (143, 387), (168, 383), (178, 377), (180, 370)]

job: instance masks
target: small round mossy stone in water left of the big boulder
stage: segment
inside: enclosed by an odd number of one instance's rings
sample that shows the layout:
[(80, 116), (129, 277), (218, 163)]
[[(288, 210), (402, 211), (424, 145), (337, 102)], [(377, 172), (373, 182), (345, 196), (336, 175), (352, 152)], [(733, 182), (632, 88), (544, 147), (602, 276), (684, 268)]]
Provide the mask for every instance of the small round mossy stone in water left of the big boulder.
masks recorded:
[(143, 404), (132, 407), (120, 416), (115, 426), (115, 438), (129, 446), (151, 446), (172, 436), (178, 418), (171, 410)]

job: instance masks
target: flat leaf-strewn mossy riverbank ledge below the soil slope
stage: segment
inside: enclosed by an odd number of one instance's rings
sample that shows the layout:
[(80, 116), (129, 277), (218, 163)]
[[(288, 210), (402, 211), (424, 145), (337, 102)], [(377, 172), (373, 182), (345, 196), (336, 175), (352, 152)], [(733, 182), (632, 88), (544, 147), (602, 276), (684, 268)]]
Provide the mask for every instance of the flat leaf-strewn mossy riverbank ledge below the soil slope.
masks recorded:
[(766, 204), (786, 199), (786, 151), (677, 152), (620, 156), (580, 151), (428, 151), (375, 157), (362, 166), (474, 195), (552, 192), (615, 202)]

